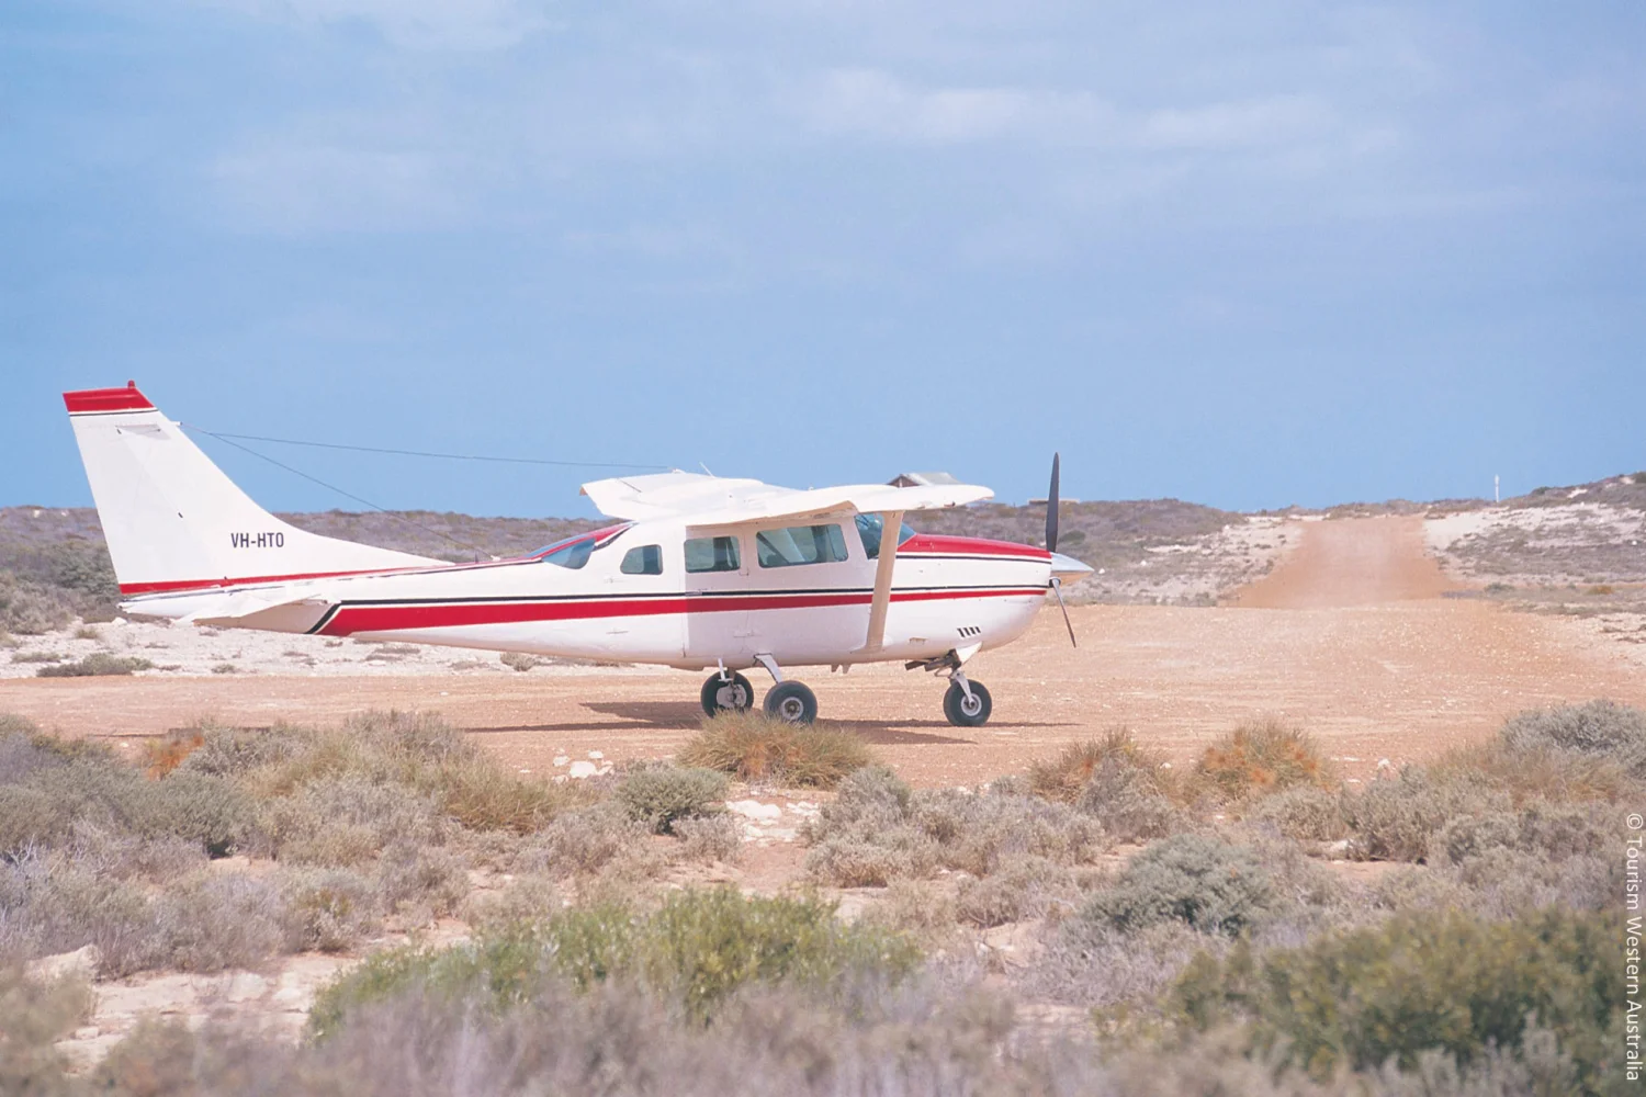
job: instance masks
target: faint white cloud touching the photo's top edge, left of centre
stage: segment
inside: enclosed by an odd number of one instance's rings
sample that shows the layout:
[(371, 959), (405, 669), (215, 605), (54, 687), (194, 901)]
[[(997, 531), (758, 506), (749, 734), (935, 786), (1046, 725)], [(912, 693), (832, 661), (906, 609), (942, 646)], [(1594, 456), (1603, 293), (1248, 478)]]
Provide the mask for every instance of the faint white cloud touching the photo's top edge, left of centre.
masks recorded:
[(507, 49), (555, 26), (543, 0), (201, 0), (300, 26), (367, 23), (412, 49)]

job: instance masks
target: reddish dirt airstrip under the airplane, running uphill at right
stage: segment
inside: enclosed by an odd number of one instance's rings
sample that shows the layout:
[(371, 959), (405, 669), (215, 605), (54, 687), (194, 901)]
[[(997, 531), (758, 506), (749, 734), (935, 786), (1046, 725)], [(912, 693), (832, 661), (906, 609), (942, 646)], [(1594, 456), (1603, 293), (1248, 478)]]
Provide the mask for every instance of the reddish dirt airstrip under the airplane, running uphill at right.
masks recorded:
[[(1055, 607), (1022, 641), (978, 656), (994, 694), (981, 730), (950, 727), (938, 683), (895, 666), (808, 671), (823, 715), (858, 725), (920, 785), (1024, 770), (1114, 725), (1187, 761), (1261, 714), (1297, 720), (1365, 778), (1379, 758), (1434, 755), (1523, 707), (1610, 696), (1646, 679), (1570, 620), (1445, 599), (1407, 518), (1310, 523), (1300, 548), (1234, 605), (1080, 607), (1072, 650)], [(698, 725), (698, 676), (677, 671), (494, 678), (109, 678), (0, 683), (0, 711), (71, 735), (155, 735), (198, 717), (263, 725), (367, 707), (436, 709), (510, 763), (668, 755)]]

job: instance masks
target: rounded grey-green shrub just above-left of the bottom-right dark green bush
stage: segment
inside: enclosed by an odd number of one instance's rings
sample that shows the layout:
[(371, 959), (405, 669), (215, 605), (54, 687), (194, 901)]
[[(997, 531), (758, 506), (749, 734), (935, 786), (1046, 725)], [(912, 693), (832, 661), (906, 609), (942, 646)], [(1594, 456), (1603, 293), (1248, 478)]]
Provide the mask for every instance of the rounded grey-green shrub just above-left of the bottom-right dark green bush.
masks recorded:
[(1177, 834), (1132, 857), (1080, 918), (1121, 931), (1182, 921), (1202, 933), (1238, 934), (1277, 905), (1274, 882), (1254, 850)]

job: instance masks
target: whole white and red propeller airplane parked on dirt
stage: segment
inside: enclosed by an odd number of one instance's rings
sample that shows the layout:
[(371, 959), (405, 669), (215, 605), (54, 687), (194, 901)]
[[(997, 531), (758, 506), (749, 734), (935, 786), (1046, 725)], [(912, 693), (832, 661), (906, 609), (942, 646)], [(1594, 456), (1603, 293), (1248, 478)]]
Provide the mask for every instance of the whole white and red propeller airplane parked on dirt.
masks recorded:
[[(703, 711), (816, 717), (797, 666), (902, 661), (948, 679), (943, 714), (989, 719), (966, 674), (1021, 636), (1050, 590), (1091, 572), (1045, 548), (915, 533), (904, 515), (993, 497), (974, 485), (815, 490), (696, 472), (583, 485), (617, 520), (528, 556), (451, 564), (324, 538), (242, 492), (135, 383), (64, 393), (128, 613), (226, 628), (650, 663), (713, 673)], [(894, 531), (887, 536), (887, 531)], [(1068, 625), (1068, 610), (1063, 609)], [(1073, 627), (1068, 628), (1075, 640)]]

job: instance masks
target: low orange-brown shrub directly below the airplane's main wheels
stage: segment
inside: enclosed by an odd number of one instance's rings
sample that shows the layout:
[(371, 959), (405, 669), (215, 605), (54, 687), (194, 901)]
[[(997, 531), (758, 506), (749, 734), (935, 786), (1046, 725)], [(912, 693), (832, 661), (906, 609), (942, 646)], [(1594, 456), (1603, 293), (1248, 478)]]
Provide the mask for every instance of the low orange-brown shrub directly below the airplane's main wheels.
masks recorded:
[(874, 761), (863, 737), (838, 724), (790, 724), (764, 712), (721, 712), (678, 755), (686, 766), (729, 773), (739, 781), (790, 788), (835, 788)]

